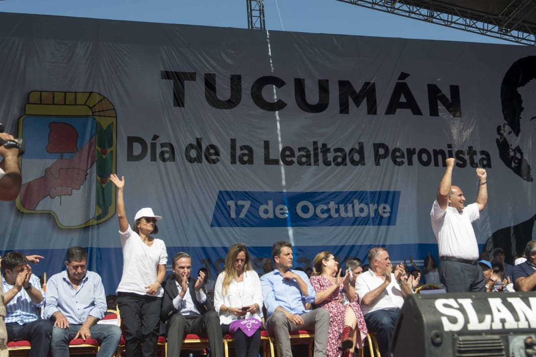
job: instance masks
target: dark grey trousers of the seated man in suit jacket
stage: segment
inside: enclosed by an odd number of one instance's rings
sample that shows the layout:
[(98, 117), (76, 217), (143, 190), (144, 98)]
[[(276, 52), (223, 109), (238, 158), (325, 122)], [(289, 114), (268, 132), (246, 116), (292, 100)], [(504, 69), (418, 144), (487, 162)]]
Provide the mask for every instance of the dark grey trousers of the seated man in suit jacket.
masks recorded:
[[(214, 310), (203, 315), (183, 316), (176, 313), (166, 322), (168, 334), (167, 355), (178, 357), (181, 354), (182, 340), (188, 333), (195, 333), (209, 338), (211, 357), (224, 355), (224, 342), (221, 335), (220, 317)], [(130, 356), (129, 356), (130, 357)]]

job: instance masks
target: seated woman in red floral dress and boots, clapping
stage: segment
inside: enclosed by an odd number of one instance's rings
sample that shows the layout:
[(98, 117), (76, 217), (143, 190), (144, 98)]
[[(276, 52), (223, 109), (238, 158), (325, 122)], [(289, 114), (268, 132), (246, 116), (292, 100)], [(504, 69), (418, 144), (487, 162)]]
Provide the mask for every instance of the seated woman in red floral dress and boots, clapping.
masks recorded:
[[(350, 356), (350, 350), (353, 350), (354, 346), (353, 336), (357, 319), (352, 307), (345, 305), (341, 287), (349, 301), (355, 299), (354, 287), (349, 283), (349, 275), (346, 275), (344, 279), (341, 278), (339, 263), (330, 252), (318, 253), (313, 266), (314, 271), (310, 282), (316, 291), (315, 303), (317, 307), (325, 308), (330, 314), (327, 357), (337, 357), (341, 352), (343, 356)], [(361, 318), (362, 316), (361, 314)], [(363, 327), (358, 325), (358, 328), (361, 331)], [(366, 336), (366, 331), (365, 326), (364, 336)]]

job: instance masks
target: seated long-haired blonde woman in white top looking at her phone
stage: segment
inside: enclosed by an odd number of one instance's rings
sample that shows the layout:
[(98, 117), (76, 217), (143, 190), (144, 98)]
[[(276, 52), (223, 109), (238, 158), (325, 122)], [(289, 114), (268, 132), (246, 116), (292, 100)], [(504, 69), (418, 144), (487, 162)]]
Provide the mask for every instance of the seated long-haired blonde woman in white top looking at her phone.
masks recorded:
[[(262, 306), (260, 279), (251, 268), (248, 248), (242, 243), (235, 244), (229, 248), (225, 269), (214, 286), (214, 309), (220, 315), (223, 335), (234, 331), (237, 357), (259, 355)], [(236, 329), (240, 319), (246, 320)]]

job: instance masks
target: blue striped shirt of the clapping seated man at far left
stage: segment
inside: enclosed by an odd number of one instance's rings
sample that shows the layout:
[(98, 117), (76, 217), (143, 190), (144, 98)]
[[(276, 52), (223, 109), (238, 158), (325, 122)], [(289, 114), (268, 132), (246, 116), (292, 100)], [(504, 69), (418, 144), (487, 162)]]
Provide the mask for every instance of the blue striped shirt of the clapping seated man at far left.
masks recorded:
[[(28, 293), (22, 288), (17, 295), (5, 306), (5, 323), (18, 323), (19, 325), (25, 325), (40, 318), (38, 307), (44, 305), (44, 293), (41, 287), (39, 278), (35, 275), (30, 276), (29, 282), (43, 295), (43, 301), (40, 303), (33, 303)], [(6, 283), (2, 276), (2, 288), (4, 294), (13, 288), (13, 285)]]

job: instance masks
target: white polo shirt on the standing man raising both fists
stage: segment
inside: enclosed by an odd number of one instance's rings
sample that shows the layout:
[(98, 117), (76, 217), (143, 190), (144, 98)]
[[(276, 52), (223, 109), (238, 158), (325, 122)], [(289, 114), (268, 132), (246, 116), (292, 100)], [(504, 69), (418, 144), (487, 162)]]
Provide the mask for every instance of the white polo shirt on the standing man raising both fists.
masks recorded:
[(437, 238), (439, 255), (477, 260), (478, 244), (472, 223), (479, 218), (480, 211), (476, 203), (471, 203), (458, 212), (449, 206), (442, 210), (437, 200), (434, 201), (430, 221)]

